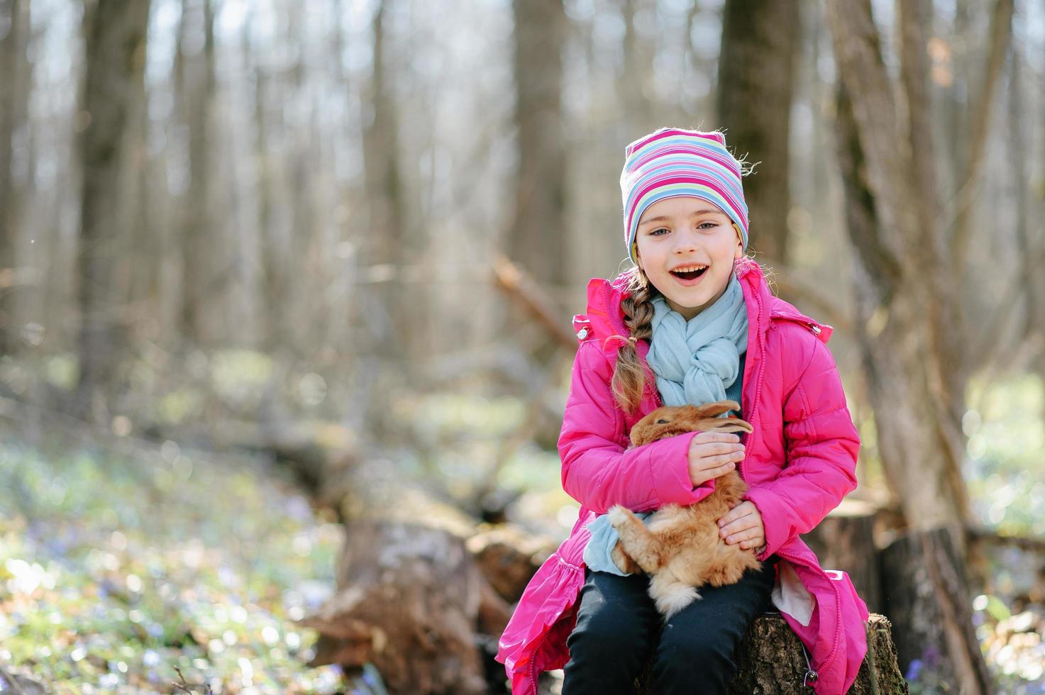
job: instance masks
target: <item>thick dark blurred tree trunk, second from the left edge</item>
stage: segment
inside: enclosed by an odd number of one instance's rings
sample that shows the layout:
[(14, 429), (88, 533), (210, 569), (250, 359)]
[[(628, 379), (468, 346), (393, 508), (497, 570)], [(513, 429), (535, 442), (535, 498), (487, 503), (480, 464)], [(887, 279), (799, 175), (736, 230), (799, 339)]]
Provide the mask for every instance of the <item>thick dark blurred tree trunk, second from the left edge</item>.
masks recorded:
[(125, 330), (113, 269), (122, 237), (119, 189), (130, 101), (145, 64), (149, 3), (99, 0), (85, 13), (87, 71), (80, 99), (83, 166), (79, 270), (79, 384), (75, 410), (108, 416), (107, 390), (124, 353)]

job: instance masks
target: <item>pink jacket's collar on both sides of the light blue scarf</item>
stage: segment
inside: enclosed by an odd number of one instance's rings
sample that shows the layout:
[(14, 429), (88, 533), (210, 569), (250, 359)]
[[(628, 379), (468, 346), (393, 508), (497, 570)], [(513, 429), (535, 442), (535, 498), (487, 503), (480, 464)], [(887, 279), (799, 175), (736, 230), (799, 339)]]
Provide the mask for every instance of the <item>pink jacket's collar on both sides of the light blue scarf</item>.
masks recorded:
[[(762, 267), (751, 258), (745, 256), (737, 262), (737, 279), (744, 292), (748, 320), (754, 323), (752, 337), (765, 340), (772, 321), (794, 321), (809, 328), (823, 343), (831, 338), (834, 328), (811, 319), (792, 304), (774, 297), (769, 291)], [(588, 280), (587, 314), (574, 317), (574, 330), (581, 341), (598, 340), (604, 351), (616, 352), (620, 340), (609, 339), (628, 334), (624, 325), (624, 309), (621, 307), (621, 301), (628, 296), (625, 291), (627, 281), (627, 273), (622, 273), (612, 281), (603, 278)]]

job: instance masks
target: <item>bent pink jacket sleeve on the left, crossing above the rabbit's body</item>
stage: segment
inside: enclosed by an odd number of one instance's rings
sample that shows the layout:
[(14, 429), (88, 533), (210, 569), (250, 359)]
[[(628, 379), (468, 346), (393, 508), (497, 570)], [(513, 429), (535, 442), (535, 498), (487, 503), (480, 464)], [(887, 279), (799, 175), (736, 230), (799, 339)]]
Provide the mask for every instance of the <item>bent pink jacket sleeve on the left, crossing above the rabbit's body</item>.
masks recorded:
[(624, 414), (613, 399), (611, 376), (598, 342), (582, 342), (558, 442), (566, 493), (599, 514), (617, 504), (648, 511), (669, 503), (693, 504), (711, 494), (714, 481), (696, 488), (690, 481), (690, 440), (697, 433), (621, 446)]

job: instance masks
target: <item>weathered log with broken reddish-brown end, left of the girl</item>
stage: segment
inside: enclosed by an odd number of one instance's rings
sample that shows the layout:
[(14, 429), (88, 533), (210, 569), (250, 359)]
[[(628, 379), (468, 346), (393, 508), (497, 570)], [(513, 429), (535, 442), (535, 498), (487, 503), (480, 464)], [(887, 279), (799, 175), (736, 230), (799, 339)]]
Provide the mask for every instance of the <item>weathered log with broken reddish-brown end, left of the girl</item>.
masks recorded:
[(354, 523), (335, 595), (298, 621), (320, 633), (309, 666), (373, 663), (392, 695), (485, 693), (475, 646), (482, 581), (464, 541), (446, 531)]

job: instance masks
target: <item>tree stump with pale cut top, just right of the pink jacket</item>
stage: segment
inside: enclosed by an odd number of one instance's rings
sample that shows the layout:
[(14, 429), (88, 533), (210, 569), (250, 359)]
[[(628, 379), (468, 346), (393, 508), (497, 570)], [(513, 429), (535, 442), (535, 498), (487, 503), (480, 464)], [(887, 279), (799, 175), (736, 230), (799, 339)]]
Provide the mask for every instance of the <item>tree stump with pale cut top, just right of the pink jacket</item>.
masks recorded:
[(853, 580), (867, 610), (883, 612), (874, 529), (877, 509), (857, 500), (842, 500), (815, 529), (802, 538), (816, 553), (820, 566), (843, 570)]

